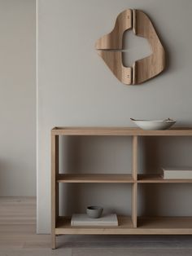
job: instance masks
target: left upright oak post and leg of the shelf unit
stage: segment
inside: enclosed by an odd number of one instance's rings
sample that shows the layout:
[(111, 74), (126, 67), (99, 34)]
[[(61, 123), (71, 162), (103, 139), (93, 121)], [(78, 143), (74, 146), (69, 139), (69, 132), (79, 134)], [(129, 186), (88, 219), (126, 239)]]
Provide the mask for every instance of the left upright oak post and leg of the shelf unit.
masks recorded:
[(55, 227), (59, 218), (59, 135), (51, 134), (51, 246), (56, 248)]

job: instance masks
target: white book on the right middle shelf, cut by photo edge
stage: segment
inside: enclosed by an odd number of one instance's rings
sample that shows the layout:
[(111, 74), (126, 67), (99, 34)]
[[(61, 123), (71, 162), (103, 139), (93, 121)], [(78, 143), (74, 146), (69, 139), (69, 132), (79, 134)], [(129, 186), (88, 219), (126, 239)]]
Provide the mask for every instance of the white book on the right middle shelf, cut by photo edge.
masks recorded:
[(164, 179), (192, 179), (190, 168), (162, 168)]

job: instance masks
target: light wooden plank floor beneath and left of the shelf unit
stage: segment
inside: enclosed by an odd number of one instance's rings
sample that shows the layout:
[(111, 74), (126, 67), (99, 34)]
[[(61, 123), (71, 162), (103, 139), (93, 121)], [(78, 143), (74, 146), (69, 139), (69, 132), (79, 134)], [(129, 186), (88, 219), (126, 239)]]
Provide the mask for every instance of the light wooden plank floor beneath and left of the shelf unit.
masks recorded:
[(0, 256), (191, 256), (192, 236), (36, 235), (35, 198), (0, 197)]

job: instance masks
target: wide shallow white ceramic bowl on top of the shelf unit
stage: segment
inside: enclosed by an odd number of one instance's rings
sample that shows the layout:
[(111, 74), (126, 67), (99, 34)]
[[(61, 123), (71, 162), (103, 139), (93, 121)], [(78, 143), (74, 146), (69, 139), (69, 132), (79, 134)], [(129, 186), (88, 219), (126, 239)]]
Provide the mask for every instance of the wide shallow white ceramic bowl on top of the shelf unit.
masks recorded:
[(130, 119), (142, 130), (167, 130), (176, 122), (170, 118), (165, 120), (135, 120), (133, 118)]

